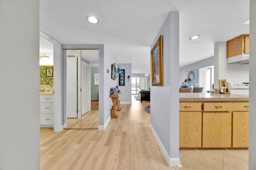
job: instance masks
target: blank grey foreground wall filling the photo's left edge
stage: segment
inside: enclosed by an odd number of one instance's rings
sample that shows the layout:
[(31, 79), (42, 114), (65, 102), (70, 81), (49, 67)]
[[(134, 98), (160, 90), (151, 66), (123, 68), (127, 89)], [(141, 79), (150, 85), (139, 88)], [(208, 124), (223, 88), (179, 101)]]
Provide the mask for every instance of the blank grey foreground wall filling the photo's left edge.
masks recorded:
[(0, 169), (39, 170), (39, 0), (0, 8)]

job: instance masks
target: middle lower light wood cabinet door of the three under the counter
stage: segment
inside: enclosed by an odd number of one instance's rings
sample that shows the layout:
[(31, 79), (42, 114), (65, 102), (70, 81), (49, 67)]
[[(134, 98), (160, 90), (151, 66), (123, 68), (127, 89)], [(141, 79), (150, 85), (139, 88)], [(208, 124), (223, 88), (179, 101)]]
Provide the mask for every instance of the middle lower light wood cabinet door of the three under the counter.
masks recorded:
[(231, 147), (231, 112), (203, 113), (203, 147)]

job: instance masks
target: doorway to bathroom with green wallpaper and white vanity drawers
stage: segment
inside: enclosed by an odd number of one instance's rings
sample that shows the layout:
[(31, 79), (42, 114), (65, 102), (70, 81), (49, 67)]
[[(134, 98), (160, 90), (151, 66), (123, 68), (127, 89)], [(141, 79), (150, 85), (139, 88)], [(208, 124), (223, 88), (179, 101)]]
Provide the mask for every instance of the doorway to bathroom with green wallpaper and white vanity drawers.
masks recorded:
[[(39, 40), (40, 141), (54, 132), (54, 44)], [(50, 74), (47, 74), (47, 70)]]

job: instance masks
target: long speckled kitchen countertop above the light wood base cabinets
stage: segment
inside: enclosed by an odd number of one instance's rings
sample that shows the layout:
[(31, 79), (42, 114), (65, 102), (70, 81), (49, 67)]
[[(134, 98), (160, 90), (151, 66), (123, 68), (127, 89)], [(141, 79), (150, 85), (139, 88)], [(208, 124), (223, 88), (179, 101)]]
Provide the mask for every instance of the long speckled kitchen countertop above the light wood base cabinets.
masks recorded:
[(249, 96), (238, 94), (216, 94), (216, 93), (180, 93), (180, 102), (221, 102), (238, 101), (248, 102)]

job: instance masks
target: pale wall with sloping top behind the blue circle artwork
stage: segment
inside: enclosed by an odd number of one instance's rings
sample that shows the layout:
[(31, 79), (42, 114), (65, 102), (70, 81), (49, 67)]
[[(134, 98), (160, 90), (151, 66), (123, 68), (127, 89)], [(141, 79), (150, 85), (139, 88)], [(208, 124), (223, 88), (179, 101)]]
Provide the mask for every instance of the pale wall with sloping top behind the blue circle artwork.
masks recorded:
[(197, 83), (195, 83), (194, 85), (199, 85), (200, 81), (199, 81), (199, 74), (200, 74), (200, 70), (199, 68), (204, 68), (207, 66), (212, 66), (214, 65), (214, 57), (210, 57), (208, 59), (204, 59), (201, 61), (198, 61), (196, 63), (192, 63), (189, 64), (187, 66), (181, 67), (180, 68), (180, 85), (182, 84), (182, 82), (184, 82), (185, 78), (188, 78), (188, 70), (194, 70), (197, 69), (197, 75), (198, 75), (198, 81)]

